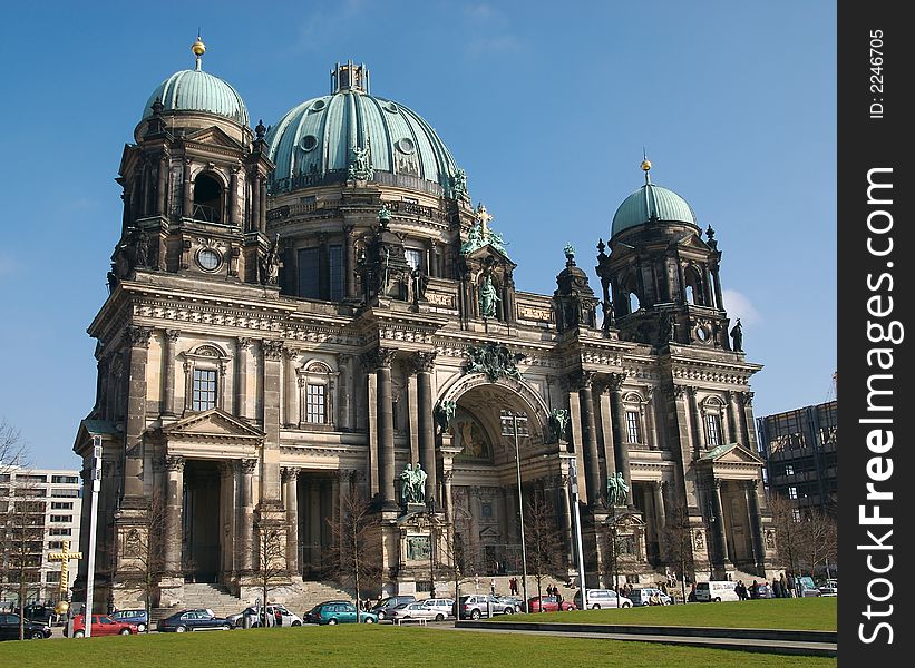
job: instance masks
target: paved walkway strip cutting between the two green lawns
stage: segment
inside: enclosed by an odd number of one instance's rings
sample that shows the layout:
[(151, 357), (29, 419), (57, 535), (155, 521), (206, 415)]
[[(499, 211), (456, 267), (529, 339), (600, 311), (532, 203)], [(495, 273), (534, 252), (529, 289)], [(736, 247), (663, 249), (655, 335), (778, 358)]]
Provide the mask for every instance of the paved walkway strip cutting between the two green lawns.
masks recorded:
[[(765, 654), (780, 655), (802, 655), (818, 657), (838, 656), (838, 644), (829, 641), (812, 640), (788, 640), (775, 638), (729, 638), (720, 635), (678, 635), (675, 627), (663, 627), (661, 632), (641, 633), (613, 632), (613, 631), (573, 631), (567, 630), (570, 625), (556, 630), (533, 630), (523, 629), (522, 623), (512, 623), (513, 628), (504, 628), (504, 623), (466, 622), (461, 621), (452, 628), (457, 631), (476, 631), (486, 633), (527, 633), (532, 636), (563, 636), (566, 638), (595, 638), (601, 640), (629, 640), (639, 642), (661, 642), (668, 645), (690, 645), (693, 647), (708, 647), (714, 649), (738, 649), (741, 651), (756, 651)], [(541, 629), (545, 625), (541, 625)], [(590, 625), (593, 628), (593, 625)], [(620, 627), (614, 627), (614, 631)], [(714, 632), (719, 629), (709, 629)]]

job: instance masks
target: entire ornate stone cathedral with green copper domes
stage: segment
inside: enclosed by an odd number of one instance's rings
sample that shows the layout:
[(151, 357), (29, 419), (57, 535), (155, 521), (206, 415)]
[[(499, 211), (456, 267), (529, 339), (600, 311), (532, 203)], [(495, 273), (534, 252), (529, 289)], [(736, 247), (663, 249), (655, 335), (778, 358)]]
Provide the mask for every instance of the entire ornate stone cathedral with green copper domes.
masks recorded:
[(576, 503), (591, 586), (610, 584), (611, 533), (631, 581), (682, 570), (671, 524), (687, 577), (765, 576), (761, 366), (724, 311), (713, 230), (648, 160), (597, 244), (598, 294), (571, 246), (552, 295), (524, 292), (524, 258), (449, 148), (373, 95), (364, 66), (335, 66), (328, 95), (252, 128), (199, 39), (193, 51), (124, 149), (109, 295), (88, 330), (97, 394), (74, 450), (88, 475), (103, 446), (97, 605), (136, 599), (140, 544), (162, 554), (155, 605), (186, 582), (253, 600), (265, 532), (283, 591), (301, 589), (327, 577), (357, 493), (379, 520), (386, 593), (428, 590), (431, 552), (520, 574), (532, 499), (557, 522), (556, 577), (577, 572)]

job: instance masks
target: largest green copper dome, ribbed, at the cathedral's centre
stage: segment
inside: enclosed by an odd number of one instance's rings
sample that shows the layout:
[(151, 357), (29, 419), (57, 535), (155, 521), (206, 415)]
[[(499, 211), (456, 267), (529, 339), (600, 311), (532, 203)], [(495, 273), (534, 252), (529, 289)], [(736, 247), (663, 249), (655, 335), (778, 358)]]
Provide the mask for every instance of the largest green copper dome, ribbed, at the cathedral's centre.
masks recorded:
[(368, 180), (449, 197), (465, 193), (464, 175), (432, 127), (400, 102), (369, 95), (361, 66), (338, 66), (334, 92), (290, 109), (266, 141), (276, 165), (272, 193), (345, 180), (353, 149), (368, 151)]

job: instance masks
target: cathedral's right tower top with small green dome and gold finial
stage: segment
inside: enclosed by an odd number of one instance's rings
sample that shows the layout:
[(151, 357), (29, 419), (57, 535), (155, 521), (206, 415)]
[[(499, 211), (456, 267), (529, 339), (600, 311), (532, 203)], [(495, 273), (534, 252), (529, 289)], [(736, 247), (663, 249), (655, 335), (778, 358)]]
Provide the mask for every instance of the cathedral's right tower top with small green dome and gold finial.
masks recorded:
[[(597, 245), (604, 330), (659, 346), (697, 344), (731, 350), (721, 296), (721, 252), (709, 226), (702, 239), (695, 212), (673, 190), (651, 183), (626, 197), (613, 216), (610, 254)], [(738, 346), (739, 347), (739, 346)]]

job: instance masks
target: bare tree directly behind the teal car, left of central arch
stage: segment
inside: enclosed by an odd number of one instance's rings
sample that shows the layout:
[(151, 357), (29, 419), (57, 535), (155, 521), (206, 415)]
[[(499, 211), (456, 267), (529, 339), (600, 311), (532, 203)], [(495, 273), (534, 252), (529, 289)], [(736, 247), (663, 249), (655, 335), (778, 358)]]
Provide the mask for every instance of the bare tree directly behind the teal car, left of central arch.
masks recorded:
[[(362, 609), (362, 591), (381, 582), (381, 519), (371, 501), (356, 485), (350, 485), (340, 500), (340, 521), (331, 522), (331, 574), (351, 583), (356, 607)], [(357, 622), (361, 616), (357, 613)]]

